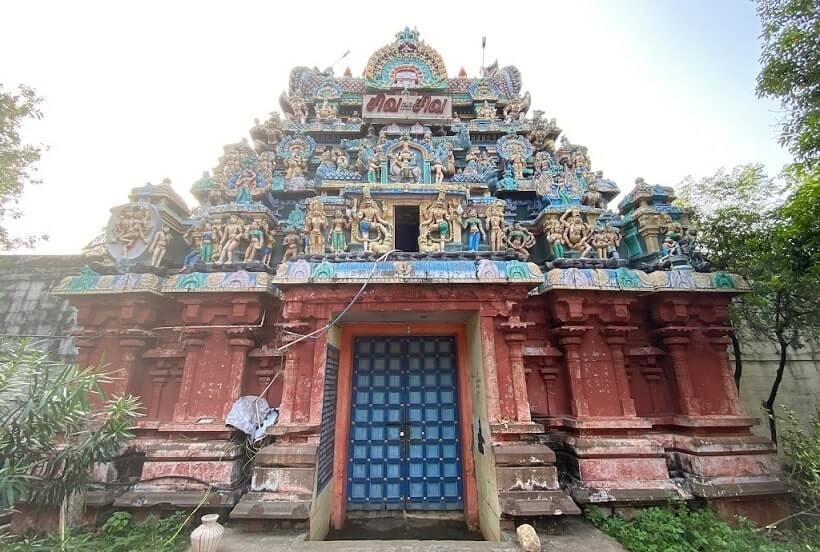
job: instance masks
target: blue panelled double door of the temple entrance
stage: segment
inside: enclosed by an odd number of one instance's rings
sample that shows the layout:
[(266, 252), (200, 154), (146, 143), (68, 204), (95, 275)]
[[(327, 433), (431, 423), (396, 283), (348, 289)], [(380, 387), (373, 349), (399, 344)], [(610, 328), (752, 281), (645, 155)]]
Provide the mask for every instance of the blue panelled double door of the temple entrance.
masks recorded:
[(462, 509), (455, 339), (354, 347), (348, 509)]

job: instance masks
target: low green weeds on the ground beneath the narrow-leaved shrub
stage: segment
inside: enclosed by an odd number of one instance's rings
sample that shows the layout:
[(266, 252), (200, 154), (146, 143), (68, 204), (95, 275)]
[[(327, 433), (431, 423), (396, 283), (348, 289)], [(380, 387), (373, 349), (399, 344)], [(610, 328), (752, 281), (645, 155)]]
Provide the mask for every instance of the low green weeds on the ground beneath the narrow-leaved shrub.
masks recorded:
[(166, 518), (149, 516), (136, 523), (128, 512), (115, 512), (97, 531), (74, 531), (61, 538), (7, 538), (2, 542), (8, 552), (177, 552), (188, 544), (189, 520), (185, 512)]

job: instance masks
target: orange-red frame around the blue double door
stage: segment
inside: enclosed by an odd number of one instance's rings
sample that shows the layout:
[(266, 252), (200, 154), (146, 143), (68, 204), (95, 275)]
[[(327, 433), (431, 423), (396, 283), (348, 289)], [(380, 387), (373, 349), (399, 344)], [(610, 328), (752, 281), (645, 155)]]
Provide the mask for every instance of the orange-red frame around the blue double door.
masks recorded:
[(330, 521), (341, 529), (347, 513), (347, 464), (350, 447), (350, 416), (353, 403), (353, 357), (357, 337), (430, 336), (454, 337), (456, 341), (456, 382), (458, 389), (459, 438), (461, 439), (461, 479), (464, 484), (464, 520), (478, 529), (478, 489), (473, 460), (473, 406), (469, 384), (467, 330), (460, 323), (349, 323), (342, 324), (336, 393), (336, 438), (333, 450), (333, 497)]

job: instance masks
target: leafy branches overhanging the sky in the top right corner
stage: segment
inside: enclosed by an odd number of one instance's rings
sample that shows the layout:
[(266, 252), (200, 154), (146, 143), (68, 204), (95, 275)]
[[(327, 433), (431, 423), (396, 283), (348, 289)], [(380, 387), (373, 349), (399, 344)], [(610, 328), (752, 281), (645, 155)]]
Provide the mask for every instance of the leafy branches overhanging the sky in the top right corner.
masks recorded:
[(781, 142), (798, 161), (820, 158), (820, 4), (816, 0), (758, 0), (763, 66), (757, 94), (786, 110)]

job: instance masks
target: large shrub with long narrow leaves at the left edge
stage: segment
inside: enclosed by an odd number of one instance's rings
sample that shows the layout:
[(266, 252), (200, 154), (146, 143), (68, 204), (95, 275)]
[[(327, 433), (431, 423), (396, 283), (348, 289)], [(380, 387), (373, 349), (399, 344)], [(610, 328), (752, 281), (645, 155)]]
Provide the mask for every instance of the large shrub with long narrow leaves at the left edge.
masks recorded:
[(52, 362), (27, 341), (0, 340), (0, 508), (57, 506), (91, 467), (116, 457), (137, 415), (132, 397), (106, 399), (110, 375)]

